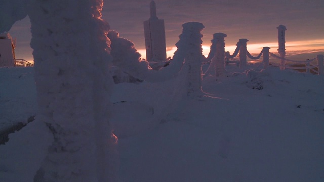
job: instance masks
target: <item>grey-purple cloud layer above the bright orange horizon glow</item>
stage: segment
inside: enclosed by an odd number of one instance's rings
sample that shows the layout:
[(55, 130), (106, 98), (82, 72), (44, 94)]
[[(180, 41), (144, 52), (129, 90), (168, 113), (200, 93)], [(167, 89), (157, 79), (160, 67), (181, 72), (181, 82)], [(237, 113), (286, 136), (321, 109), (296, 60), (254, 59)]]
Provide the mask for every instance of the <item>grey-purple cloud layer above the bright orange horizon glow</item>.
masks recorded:
[[(286, 25), (287, 34), (296, 40), (303, 39), (308, 32), (309, 38), (316, 39), (324, 29), (320, 8), (324, 7), (324, 1), (318, 0), (156, 0), (155, 3), (157, 17), (165, 20), (168, 47), (177, 42), (181, 25), (188, 21), (206, 26), (204, 42), (210, 42), (213, 33), (223, 32), (230, 44), (239, 38), (256, 43), (276, 41), (279, 24)], [(105, 1), (104, 19), (112, 29), (141, 48), (145, 48), (143, 21), (148, 18), (149, 1)]]

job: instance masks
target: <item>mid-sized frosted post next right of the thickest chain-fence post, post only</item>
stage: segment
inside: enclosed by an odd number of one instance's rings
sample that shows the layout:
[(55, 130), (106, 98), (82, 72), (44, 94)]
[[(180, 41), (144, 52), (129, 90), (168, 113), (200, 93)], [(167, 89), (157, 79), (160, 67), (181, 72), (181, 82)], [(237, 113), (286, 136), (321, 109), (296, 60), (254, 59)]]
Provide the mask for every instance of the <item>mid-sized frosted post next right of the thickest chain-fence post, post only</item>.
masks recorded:
[(212, 60), (215, 61), (215, 75), (220, 76), (225, 73), (225, 33), (215, 33), (213, 34), (214, 39), (216, 39), (216, 53)]

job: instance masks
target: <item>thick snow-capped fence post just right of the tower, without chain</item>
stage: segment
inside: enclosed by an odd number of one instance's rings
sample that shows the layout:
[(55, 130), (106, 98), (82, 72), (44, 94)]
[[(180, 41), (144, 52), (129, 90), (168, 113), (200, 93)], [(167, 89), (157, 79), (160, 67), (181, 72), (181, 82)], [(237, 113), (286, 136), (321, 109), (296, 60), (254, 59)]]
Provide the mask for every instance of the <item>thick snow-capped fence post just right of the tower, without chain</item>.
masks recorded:
[(178, 50), (185, 54), (183, 67), (187, 69), (182, 69), (182, 71), (187, 70), (187, 73), (184, 73), (187, 74), (187, 80), (185, 80), (186, 96), (187, 98), (193, 99), (203, 96), (201, 90), (201, 80), (203, 79), (201, 70), (203, 61), (201, 44), (203, 40), (201, 38), (203, 35), (200, 32), (205, 26), (199, 22), (187, 22), (182, 27), (182, 34), (179, 35), (180, 40), (176, 45)]

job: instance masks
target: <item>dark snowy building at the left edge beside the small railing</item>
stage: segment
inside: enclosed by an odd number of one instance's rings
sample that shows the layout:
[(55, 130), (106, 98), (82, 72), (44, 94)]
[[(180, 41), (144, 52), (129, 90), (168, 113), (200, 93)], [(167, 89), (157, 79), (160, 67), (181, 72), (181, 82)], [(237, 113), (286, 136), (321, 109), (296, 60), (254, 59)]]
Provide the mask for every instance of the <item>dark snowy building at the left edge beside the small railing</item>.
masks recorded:
[(9, 33), (0, 34), (0, 67), (15, 66), (16, 40)]

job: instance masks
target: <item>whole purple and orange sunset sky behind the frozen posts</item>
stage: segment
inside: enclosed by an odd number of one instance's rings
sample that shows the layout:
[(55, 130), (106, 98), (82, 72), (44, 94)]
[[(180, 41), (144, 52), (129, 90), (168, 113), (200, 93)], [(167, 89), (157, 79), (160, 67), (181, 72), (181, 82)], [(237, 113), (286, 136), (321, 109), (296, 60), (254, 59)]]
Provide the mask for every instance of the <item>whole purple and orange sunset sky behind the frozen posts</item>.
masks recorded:
[[(150, 0), (104, 0), (103, 19), (120, 37), (134, 42), (145, 58), (143, 21), (149, 18)], [(227, 34), (226, 51), (235, 49), (239, 38), (247, 38), (248, 50), (259, 53), (262, 47), (276, 52), (277, 29), (287, 27), (287, 51), (319, 50), (324, 53), (324, 1), (322, 0), (155, 0), (159, 19), (165, 20), (167, 56), (173, 56), (181, 25), (203, 23), (204, 55), (208, 54), (214, 33)], [(28, 17), (16, 22), (10, 30), (17, 38), (17, 59), (32, 60)]]

